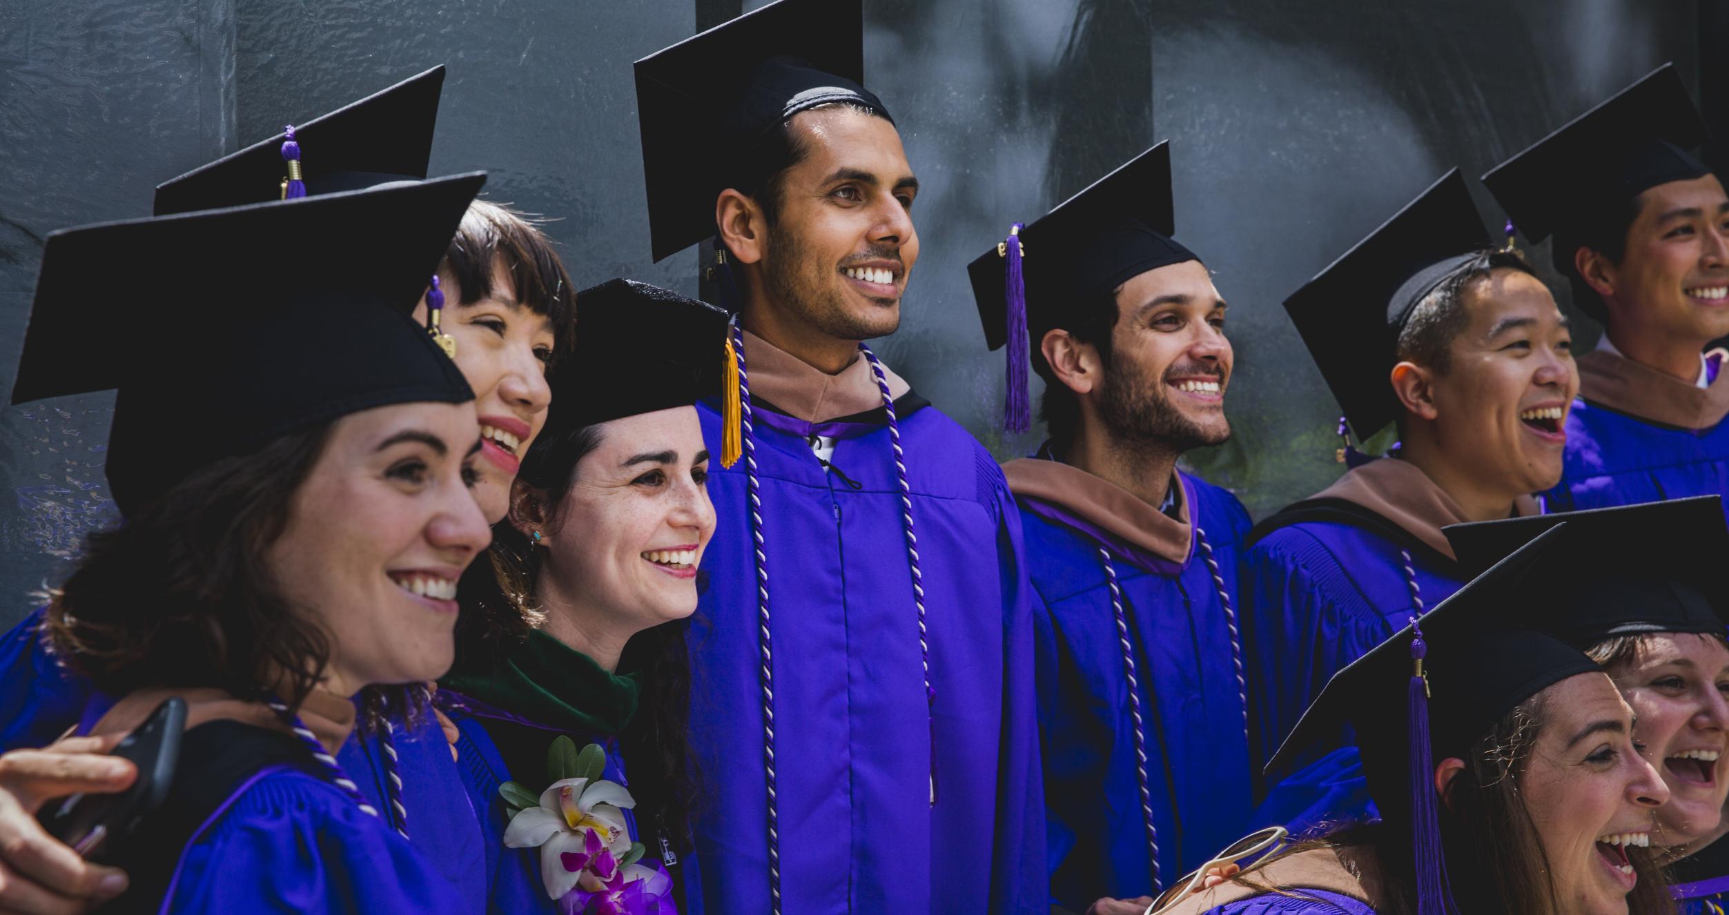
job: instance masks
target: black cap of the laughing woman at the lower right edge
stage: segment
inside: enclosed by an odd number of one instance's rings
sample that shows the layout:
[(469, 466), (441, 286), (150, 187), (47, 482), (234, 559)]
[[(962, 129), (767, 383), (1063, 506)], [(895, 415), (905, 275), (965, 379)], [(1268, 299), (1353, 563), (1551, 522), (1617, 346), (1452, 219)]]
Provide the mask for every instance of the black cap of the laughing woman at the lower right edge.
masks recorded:
[[(1541, 569), (1537, 626), (1587, 649), (1618, 635), (1717, 633), (1729, 621), (1729, 526), (1722, 496), (1482, 521), (1444, 528), (1466, 571), (1492, 566), (1566, 524)], [(1553, 609), (1553, 617), (1544, 617)]]

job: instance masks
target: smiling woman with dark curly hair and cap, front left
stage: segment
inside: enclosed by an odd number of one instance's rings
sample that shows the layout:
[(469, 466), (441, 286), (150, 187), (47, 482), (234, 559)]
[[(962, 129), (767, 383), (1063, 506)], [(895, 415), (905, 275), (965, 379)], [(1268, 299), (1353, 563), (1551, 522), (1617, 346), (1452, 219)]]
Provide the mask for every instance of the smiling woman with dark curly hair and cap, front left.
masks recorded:
[[(470, 875), (432, 867), (401, 808), (370, 804), (334, 754), (384, 709), (429, 714), (417, 694), (451, 661), (448, 597), (489, 538), (474, 393), (406, 315), (482, 183), (48, 237), (12, 396), (119, 387), (107, 476), (124, 521), (92, 534), (43, 624), (116, 697), (92, 733), (171, 694), (194, 707), (166, 803), (97, 851), (131, 877), (116, 912), (472, 912)], [(176, 287), (188, 251), (202, 282)], [(102, 311), (169, 287), (182, 320)], [(163, 438), (188, 391), (223, 417), (197, 448)]]

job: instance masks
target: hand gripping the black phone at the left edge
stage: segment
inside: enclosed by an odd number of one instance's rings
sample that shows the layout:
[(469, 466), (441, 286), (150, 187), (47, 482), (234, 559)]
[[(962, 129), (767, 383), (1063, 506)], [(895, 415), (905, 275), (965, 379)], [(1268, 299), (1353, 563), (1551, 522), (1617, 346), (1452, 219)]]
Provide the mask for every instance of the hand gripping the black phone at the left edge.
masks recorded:
[(85, 861), (36, 822), (52, 799), (126, 790), (138, 770), (107, 756), (123, 737), (71, 737), (0, 754), (0, 912), (80, 913), (126, 891), (124, 872)]

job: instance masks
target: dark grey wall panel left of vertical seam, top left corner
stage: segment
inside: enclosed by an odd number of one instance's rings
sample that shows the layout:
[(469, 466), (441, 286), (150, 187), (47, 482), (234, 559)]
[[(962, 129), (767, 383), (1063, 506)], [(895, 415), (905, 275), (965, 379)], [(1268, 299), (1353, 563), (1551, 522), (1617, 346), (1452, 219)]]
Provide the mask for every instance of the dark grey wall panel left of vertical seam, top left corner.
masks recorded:
[[(233, 0), (0, 3), (0, 379), (10, 391), (48, 232), (147, 216), (156, 183), (235, 145)], [(188, 282), (197, 282), (195, 273)], [(138, 289), (116, 308), (173, 308)], [(100, 327), (92, 327), (100, 334)], [(175, 448), (197, 448), (197, 391)], [(0, 624), (114, 519), (112, 393), (0, 406)], [(211, 417), (202, 417), (209, 420)]]

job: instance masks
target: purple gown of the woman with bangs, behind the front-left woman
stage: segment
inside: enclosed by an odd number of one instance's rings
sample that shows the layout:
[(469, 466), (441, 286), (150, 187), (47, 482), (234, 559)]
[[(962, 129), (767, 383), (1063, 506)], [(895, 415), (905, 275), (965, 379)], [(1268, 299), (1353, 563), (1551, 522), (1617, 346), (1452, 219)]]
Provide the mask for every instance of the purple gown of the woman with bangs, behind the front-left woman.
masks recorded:
[[(111, 697), (61, 668), (40, 637), (41, 616), (38, 609), (0, 637), (0, 751), (45, 745), (74, 725), (95, 723), (112, 706)], [(467, 912), (479, 912), (486, 901), (481, 829), (437, 720), (429, 714), (415, 728), (398, 721), (396, 754), (415, 849), (453, 880)], [(389, 809), (377, 735), (351, 735), (337, 751), (337, 763), (367, 803)]]

